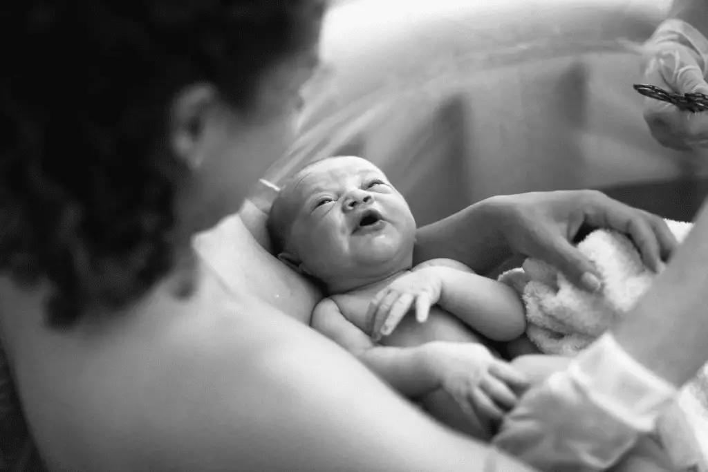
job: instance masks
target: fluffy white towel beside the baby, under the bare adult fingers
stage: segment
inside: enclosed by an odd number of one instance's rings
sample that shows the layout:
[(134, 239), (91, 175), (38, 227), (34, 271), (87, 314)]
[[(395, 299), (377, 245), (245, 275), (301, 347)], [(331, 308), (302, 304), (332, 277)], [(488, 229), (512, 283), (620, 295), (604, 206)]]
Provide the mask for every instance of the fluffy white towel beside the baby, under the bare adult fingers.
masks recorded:
[[(692, 226), (666, 221), (678, 241)], [(598, 268), (603, 289), (597, 294), (535, 259), (499, 277), (522, 296), (526, 334), (547, 354), (576, 355), (622, 319), (653, 281), (632, 241), (615, 231), (593, 231), (578, 249)], [(659, 421), (658, 433), (677, 466), (708, 472), (708, 364), (681, 390), (675, 407)]]

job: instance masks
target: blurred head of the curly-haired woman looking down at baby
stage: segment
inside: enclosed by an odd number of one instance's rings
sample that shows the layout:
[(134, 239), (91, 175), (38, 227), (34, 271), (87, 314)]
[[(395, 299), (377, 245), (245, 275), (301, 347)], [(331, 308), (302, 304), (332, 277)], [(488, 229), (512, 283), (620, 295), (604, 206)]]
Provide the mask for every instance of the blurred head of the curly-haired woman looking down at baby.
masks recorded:
[(320, 0), (16, 2), (0, 71), (0, 272), (50, 323), (137, 299), (289, 144)]

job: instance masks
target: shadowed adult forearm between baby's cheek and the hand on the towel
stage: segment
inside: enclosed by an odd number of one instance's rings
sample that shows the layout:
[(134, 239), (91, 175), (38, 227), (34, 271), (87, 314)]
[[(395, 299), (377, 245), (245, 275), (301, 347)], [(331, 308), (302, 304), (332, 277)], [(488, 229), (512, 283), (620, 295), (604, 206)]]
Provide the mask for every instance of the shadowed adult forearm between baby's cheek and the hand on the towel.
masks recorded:
[(454, 259), (480, 274), (503, 263), (512, 253), (501, 231), (491, 224), (493, 205), (493, 197), (488, 198), (418, 229), (413, 263)]

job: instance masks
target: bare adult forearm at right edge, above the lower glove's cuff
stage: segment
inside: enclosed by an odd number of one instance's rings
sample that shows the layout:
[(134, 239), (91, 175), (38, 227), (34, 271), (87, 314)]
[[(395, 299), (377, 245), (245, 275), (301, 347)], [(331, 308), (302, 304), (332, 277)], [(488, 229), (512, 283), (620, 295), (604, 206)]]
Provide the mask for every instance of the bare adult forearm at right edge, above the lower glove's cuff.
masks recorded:
[(676, 386), (708, 360), (708, 206), (651, 289), (614, 330), (639, 363)]

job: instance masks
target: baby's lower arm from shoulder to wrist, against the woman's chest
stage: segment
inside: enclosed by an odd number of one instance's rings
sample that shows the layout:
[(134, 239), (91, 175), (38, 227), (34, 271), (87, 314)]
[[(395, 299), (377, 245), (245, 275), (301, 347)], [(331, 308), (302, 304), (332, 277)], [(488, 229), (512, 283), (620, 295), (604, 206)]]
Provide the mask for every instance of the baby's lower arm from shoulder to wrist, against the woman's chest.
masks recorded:
[(430, 368), (426, 347), (375, 345), (362, 330), (344, 317), (331, 299), (324, 299), (315, 307), (312, 328), (358, 357), (406, 397), (423, 396), (440, 387), (438, 376)]

